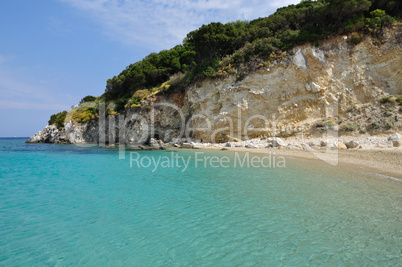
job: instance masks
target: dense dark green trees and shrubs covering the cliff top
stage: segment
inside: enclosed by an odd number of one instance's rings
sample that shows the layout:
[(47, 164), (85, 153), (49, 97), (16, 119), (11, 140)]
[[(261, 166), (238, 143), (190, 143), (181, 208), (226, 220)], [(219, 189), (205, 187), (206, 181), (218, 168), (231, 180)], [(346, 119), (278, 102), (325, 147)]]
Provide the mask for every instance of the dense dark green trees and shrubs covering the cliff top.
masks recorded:
[[(182, 44), (127, 66), (107, 80), (101, 98), (108, 106), (114, 103), (108, 114), (117, 114), (140, 106), (148, 95), (182, 91), (204, 78), (236, 75), (241, 80), (251, 71), (281, 61), (296, 45), (319, 46), (320, 39), (349, 33), (353, 44), (367, 35), (381, 39), (382, 29), (400, 21), (401, 11), (397, 0), (302, 0), (266, 18), (213, 22), (188, 33)], [(81, 104), (98, 100), (86, 96)], [(95, 111), (76, 111), (86, 115), (75, 119), (86, 121)]]

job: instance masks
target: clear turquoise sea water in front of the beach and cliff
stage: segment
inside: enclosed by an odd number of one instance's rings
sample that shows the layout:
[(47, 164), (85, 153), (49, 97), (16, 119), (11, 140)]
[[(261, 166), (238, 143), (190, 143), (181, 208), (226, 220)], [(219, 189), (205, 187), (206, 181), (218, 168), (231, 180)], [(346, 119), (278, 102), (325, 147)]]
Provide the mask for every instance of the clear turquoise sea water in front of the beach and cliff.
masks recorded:
[(24, 140), (0, 139), (1, 266), (401, 266), (401, 182), (290, 160), (196, 168), (194, 150), (175, 152), (185, 171), (152, 172)]

